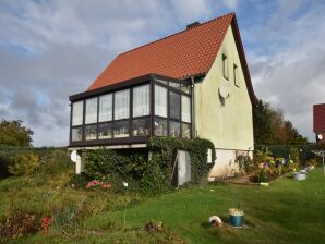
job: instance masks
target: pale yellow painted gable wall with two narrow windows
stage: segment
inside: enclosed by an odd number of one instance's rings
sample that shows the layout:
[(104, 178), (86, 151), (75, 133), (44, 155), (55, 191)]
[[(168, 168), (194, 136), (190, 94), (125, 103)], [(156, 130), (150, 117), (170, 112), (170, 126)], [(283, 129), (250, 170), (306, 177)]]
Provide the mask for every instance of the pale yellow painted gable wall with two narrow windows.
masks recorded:
[[(222, 75), (222, 54), (228, 58), (229, 81)], [(238, 84), (234, 86), (233, 63), (238, 66)], [(220, 101), (222, 81), (231, 84), (230, 96)], [(253, 150), (252, 103), (245, 85), (231, 25), (216, 60), (203, 80), (195, 84), (196, 133), (210, 139), (216, 148)]]

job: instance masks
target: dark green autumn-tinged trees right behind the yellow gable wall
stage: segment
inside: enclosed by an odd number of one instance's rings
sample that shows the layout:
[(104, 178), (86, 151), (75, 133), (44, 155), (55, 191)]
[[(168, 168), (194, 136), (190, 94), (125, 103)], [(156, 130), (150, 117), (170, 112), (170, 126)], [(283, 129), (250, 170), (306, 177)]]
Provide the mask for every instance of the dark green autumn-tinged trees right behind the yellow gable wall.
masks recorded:
[(274, 109), (268, 102), (258, 100), (253, 108), (254, 139), (256, 144), (305, 144), (308, 139), (299, 134), (292, 123), (284, 119), (281, 109)]

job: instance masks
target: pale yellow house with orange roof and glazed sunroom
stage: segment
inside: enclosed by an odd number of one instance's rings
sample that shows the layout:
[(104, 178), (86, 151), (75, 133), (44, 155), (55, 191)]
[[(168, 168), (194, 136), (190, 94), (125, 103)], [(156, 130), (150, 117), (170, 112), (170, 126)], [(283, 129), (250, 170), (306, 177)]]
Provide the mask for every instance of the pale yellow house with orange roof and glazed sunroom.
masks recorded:
[(119, 54), (70, 101), (71, 150), (207, 138), (217, 155), (210, 176), (218, 176), (254, 149), (256, 98), (234, 13)]

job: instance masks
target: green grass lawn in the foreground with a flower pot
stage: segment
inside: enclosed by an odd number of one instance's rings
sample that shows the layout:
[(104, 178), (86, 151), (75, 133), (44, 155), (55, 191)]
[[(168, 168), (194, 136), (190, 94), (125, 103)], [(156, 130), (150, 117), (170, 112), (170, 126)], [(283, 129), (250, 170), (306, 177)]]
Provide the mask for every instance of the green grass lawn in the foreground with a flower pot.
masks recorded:
[[(49, 213), (56, 206), (63, 208), (64, 203), (87, 206), (72, 232), (53, 231), (49, 235), (39, 232), (13, 243), (324, 243), (325, 240), (322, 168), (309, 173), (304, 182), (285, 178), (269, 187), (191, 186), (155, 197), (73, 190), (67, 186), (68, 179), (68, 173), (63, 173), (0, 181), (0, 217), (10, 210), (12, 203), (20, 203), (21, 208), (29, 211), (35, 208)], [(237, 207), (238, 203), (245, 212), (243, 229), (228, 225), (228, 208)], [(221, 217), (226, 222), (222, 228), (207, 223), (212, 215)], [(144, 231), (149, 220), (161, 221), (164, 231)]]

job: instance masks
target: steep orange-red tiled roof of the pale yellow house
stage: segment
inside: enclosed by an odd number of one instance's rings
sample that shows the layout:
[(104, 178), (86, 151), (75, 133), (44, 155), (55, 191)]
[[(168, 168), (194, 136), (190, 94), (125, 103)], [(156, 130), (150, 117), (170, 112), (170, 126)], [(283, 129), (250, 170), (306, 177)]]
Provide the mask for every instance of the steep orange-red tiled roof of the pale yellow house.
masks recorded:
[(160, 74), (181, 80), (205, 75), (218, 54), (230, 24), (233, 29), (249, 94), (251, 100), (255, 102), (256, 98), (234, 13), (226, 14), (119, 54), (87, 90), (146, 74)]

